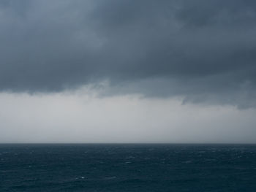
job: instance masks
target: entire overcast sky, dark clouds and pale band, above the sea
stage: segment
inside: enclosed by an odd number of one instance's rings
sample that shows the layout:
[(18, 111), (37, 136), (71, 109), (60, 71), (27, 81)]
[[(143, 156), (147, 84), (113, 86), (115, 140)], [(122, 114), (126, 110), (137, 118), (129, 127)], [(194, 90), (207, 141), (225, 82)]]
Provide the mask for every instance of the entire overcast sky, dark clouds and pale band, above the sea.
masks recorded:
[(256, 142), (256, 1), (1, 0), (0, 142)]

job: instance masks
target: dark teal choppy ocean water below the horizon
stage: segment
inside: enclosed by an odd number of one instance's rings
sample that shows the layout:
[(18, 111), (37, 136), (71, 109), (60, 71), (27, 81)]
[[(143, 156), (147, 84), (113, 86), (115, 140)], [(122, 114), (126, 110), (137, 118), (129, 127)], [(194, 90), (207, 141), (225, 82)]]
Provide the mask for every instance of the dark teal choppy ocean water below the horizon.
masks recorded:
[(0, 145), (0, 191), (256, 191), (256, 145)]

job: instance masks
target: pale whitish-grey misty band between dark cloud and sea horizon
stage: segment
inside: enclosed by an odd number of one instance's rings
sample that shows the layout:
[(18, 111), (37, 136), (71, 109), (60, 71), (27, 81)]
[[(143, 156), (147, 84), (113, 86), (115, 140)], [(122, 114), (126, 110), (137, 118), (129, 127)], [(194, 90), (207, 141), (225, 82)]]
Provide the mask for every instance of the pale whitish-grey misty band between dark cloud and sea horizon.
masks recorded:
[(256, 141), (254, 109), (92, 93), (0, 93), (0, 142)]

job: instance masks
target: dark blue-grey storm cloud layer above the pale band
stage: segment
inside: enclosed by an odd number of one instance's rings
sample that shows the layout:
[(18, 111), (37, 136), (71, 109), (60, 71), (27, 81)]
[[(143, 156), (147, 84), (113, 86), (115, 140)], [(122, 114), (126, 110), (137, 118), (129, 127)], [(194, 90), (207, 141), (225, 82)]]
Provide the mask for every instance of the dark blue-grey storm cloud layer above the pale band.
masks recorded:
[(112, 93), (256, 107), (252, 0), (1, 1), (0, 90)]

